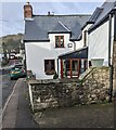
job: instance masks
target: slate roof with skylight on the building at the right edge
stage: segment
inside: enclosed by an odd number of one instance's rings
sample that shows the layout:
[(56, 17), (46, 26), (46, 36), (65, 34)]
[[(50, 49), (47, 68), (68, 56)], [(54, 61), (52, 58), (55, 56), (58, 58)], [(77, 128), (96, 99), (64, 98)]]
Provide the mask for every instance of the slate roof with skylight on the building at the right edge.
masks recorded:
[(89, 32), (94, 30), (98, 26), (100, 26), (104, 21), (108, 20), (108, 14), (116, 8), (116, 0), (112, 0), (112, 2), (104, 2), (101, 8), (98, 8), (89, 21), (94, 24), (89, 28)]

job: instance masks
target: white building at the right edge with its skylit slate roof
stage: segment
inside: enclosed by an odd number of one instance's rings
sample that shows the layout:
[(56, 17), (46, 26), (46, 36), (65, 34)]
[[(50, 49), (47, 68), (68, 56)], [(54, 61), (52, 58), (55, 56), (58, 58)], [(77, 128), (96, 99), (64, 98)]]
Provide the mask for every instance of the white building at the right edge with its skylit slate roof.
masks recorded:
[(91, 16), (88, 32), (88, 60), (103, 58), (103, 65), (112, 64), (113, 42), (116, 41), (116, 0), (106, 1)]

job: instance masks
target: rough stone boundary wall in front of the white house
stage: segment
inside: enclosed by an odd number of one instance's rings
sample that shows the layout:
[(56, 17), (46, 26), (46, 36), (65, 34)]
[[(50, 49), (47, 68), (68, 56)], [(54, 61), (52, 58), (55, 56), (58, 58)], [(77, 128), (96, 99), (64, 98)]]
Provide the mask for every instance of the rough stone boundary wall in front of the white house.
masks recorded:
[[(108, 101), (108, 67), (90, 68), (79, 80), (33, 80), (34, 110)], [(66, 80), (68, 80), (66, 82)]]

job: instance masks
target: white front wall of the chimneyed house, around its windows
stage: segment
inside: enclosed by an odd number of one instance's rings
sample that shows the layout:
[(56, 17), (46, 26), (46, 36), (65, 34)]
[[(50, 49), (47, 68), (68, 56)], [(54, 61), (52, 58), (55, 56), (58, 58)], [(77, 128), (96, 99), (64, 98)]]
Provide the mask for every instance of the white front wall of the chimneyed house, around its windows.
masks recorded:
[[(55, 36), (64, 36), (64, 48), (55, 48)], [(55, 60), (57, 73), (57, 56), (74, 50), (74, 43), (68, 40), (69, 34), (49, 34), (49, 39), (50, 42), (25, 42), (27, 70), (33, 70), (37, 79), (53, 78), (53, 75), (44, 73), (44, 60)], [(73, 43), (73, 47), (68, 48), (68, 43)], [(61, 73), (60, 69), (59, 73)]]

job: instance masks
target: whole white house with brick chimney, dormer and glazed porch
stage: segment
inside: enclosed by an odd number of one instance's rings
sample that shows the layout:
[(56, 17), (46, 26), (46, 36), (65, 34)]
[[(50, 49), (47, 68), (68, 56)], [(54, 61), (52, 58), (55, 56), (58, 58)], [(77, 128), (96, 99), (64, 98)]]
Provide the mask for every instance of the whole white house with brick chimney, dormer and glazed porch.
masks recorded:
[(80, 39), (90, 15), (34, 15), (27, 3), (24, 18), (26, 67), (37, 79), (78, 77), (87, 69), (88, 48)]

